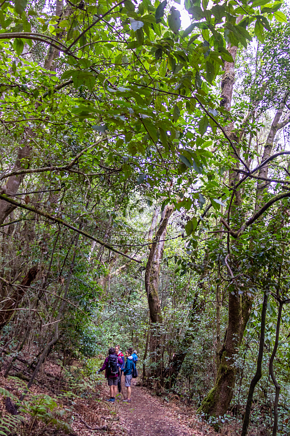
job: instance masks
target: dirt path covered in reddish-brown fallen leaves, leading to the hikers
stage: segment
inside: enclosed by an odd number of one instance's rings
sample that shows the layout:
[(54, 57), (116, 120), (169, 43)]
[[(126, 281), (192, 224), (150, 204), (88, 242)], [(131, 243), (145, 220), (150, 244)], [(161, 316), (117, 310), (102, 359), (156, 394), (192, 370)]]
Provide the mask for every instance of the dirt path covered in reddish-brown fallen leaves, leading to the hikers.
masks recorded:
[[(122, 377), (123, 379), (123, 377)], [(132, 383), (131, 403), (121, 401), (119, 415), (128, 429), (128, 436), (190, 436), (200, 435), (174, 417), (169, 407), (152, 397), (145, 388)], [(123, 392), (126, 388), (123, 385)]]

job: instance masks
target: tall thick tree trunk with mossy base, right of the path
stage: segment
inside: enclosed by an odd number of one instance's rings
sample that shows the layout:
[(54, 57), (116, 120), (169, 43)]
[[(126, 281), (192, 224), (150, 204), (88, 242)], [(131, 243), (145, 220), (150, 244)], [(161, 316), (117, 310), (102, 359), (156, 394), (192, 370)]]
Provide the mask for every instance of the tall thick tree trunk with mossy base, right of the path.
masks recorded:
[[(241, 20), (242, 16), (237, 18), (236, 23), (239, 24)], [(235, 61), (238, 47), (229, 45), (227, 50), (232, 54), (233, 62), (225, 62), (224, 64), (220, 106), (230, 111), (235, 83)], [(238, 138), (235, 132), (233, 132), (233, 127), (233, 123), (230, 122), (225, 130), (233, 142), (238, 142)], [(236, 149), (239, 154), (239, 148), (237, 147)], [(230, 155), (237, 161), (236, 166), (239, 167), (238, 157), (232, 149), (230, 150)], [(239, 180), (239, 172), (229, 170), (229, 185), (233, 188), (234, 205), (232, 206), (232, 216), (234, 217), (238, 215), (237, 208), (241, 205), (241, 191), (235, 188)], [(228, 236), (228, 250), (229, 249), (230, 240)], [(232, 272), (231, 276), (233, 278)], [(198, 411), (204, 412), (207, 416), (219, 417), (224, 415), (231, 403), (237, 372), (234, 356), (237, 354), (237, 349), (241, 345), (243, 332), (250, 315), (251, 305), (252, 298), (248, 297), (246, 292), (241, 292), (237, 283), (233, 283), (229, 286), (228, 327), (226, 329), (223, 346), (219, 352), (219, 358), (216, 359), (217, 366), (219, 364), (219, 367), (215, 384), (198, 409)], [(219, 307), (217, 307), (217, 313), (218, 310)], [(219, 326), (217, 325), (217, 335), (219, 333), (218, 329)]]

